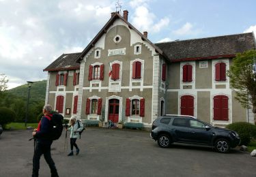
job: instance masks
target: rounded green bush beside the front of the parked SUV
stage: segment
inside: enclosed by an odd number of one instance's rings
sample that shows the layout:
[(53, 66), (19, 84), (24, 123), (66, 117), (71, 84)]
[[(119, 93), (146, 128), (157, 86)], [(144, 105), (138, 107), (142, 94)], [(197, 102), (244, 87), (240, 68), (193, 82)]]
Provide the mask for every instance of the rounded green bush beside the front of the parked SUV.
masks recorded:
[(238, 135), (241, 138), (240, 145), (247, 146), (251, 142), (251, 139), (256, 138), (256, 126), (251, 123), (231, 123), (227, 125), (226, 128), (238, 132)]

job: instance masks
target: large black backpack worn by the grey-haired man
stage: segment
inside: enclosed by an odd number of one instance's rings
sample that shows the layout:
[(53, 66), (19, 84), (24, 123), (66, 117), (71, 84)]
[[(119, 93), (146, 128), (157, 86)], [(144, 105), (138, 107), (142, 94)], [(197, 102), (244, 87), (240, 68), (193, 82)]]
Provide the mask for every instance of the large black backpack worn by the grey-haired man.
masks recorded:
[(53, 116), (48, 116), (48, 117), (51, 118), (50, 120), (51, 133), (49, 135), (49, 138), (51, 140), (58, 140), (63, 130), (63, 125), (62, 125), (63, 116), (61, 114), (54, 113)]

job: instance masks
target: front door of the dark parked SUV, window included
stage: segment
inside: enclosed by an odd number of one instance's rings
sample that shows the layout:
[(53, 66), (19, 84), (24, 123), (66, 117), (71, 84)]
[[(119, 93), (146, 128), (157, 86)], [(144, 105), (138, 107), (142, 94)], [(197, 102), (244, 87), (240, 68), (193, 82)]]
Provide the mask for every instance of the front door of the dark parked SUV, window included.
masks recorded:
[(210, 144), (212, 140), (212, 129), (205, 129), (205, 124), (196, 119), (189, 120), (189, 141), (197, 144)]

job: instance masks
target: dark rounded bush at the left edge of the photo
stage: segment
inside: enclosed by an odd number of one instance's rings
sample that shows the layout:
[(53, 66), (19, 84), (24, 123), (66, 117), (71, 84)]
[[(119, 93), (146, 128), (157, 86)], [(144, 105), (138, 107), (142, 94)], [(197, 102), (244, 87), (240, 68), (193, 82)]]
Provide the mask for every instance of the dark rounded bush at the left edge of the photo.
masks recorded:
[(0, 124), (3, 126), (3, 129), (5, 129), (6, 124), (12, 123), (15, 118), (14, 111), (5, 107), (0, 108)]

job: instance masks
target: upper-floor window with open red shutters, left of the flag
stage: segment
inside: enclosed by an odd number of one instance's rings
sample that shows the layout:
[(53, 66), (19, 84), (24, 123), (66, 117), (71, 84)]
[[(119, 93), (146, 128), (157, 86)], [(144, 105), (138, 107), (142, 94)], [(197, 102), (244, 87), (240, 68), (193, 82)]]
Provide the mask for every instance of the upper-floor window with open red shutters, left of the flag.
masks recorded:
[(89, 65), (88, 80), (103, 80), (104, 65)]

